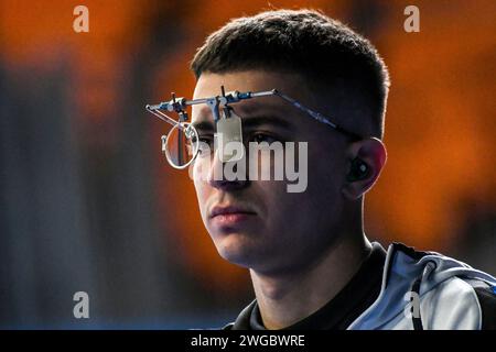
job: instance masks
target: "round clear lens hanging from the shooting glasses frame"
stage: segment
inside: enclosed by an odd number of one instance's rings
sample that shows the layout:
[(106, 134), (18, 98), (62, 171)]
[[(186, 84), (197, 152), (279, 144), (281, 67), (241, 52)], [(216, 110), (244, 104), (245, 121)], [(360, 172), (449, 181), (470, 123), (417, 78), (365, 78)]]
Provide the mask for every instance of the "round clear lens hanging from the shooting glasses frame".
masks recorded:
[(187, 122), (176, 124), (168, 134), (165, 157), (174, 168), (185, 168), (198, 154), (198, 133)]

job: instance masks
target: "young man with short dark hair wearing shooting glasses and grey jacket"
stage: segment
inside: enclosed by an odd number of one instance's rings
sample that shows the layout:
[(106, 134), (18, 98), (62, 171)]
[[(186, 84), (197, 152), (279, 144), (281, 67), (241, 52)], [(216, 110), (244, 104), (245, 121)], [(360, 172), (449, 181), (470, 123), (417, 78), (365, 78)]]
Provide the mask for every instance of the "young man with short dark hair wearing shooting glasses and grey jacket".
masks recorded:
[[(215, 177), (224, 164), (216, 150), (192, 164), (218, 253), (247, 267), (255, 288), (256, 299), (226, 329), (496, 327), (494, 277), (402, 244), (386, 252), (364, 233), (364, 196), (386, 163), (389, 87), (366, 38), (320, 12), (269, 11), (208, 36), (192, 69), (194, 99), (219, 96), (220, 86), (290, 97), (237, 102), (244, 142), (308, 146), (306, 187), (298, 193), (288, 180)], [(212, 109), (193, 106), (192, 124), (212, 145)]]

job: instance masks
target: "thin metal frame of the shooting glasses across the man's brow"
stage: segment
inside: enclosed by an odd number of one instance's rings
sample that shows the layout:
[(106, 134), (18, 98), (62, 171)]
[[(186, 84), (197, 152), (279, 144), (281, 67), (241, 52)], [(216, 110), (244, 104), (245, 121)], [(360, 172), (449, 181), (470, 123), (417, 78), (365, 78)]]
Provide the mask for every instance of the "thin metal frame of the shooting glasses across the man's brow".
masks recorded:
[[(217, 122), (220, 119), (220, 109), (223, 109), (226, 117), (229, 117), (229, 111), (231, 108), (228, 105), (230, 105), (230, 103), (236, 103), (241, 100), (252, 99), (252, 98), (258, 98), (258, 97), (277, 96), (277, 97), (282, 98), (284, 101), (291, 103), (293, 107), (302, 110), (303, 112), (306, 112), (310, 117), (312, 117), (316, 121), (331, 127), (332, 129), (336, 130), (339, 133), (346, 134), (347, 136), (352, 138), (353, 140), (358, 141), (358, 140), (364, 139), (362, 135), (342, 128), (337, 123), (332, 122), (332, 119), (330, 119), (328, 117), (323, 116), (322, 113), (316, 112), (316, 111), (303, 106), (298, 100), (280, 92), (277, 89), (257, 91), (257, 92), (251, 92), (251, 91), (239, 92), (236, 90), (236, 91), (230, 91), (227, 94), (224, 91), (224, 86), (222, 86), (220, 89), (222, 89), (220, 96), (215, 96), (215, 97), (209, 97), (209, 98), (198, 98), (198, 99), (192, 99), (192, 100), (187, 100), (185, 98), (176, 98), (175, 95), (172, 94), (172, 99), (170, 101), (163, 101), (158, 105), (147, 105), (145, 109), (149, 112), (151, 112), (152, 114), (154, 114), (155, 117), (158, 117), (159, 119), (161, 119), (162, 121), (165, 121), (165, 122), (172, 124), (174, 128), (180, 129), (179, 132), (184, 132), (185, 136), (187, 139), (195, 138), (197, 141), (198, 133), (197, 133), (196, 129), (191, 123), (186, 122), (188, 117), (187, 117), (187, 112), (185, 111), (185, 109), (188, 106), (206, 103), (212, 110), (214, 121)], [(179, 114), (179, 119), (174, 120), (171, 117), (169, 117), (168, 114), (165, 114), (164, 112), (162, 112), (161, 110), (165, 110), (168, 112), (175, 111)], [(179, 168), (179, 169), (187, 167), (196, 158), (198, 151), (200, 151), (198, 143), (196, 143), (196, 147), (192, 151), (192, 154), (193, 154), (192, 160), (190, 162), (187, 162), (186, 164), (179, 166), (179, 165), (175, 165), (173, 162), (171, 162), (171, 156), (168, 152), (166, 144), (168, 144), (168, 136), (162, 135), (162, 152), (165, 153), (165, 157), (166, 157), (169, 164), (172, 167)]]

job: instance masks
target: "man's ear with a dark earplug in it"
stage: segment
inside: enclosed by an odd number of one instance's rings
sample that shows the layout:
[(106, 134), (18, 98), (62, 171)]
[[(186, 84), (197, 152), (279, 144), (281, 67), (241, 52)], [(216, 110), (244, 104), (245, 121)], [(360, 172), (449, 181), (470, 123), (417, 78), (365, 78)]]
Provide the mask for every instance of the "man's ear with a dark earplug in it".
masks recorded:
[(354, 180), (346, 180), (342, 191), (343, 195), (349, 200), (355, 200), (360, 198), (365, 193), (367, 193), (379, 178), (380, 172), (386, 164), (387, 153), (384, 143), (376, 139), (369, 138), (353, 143), (347, 153), (348, 157), (348, 168), (347, 172), (352, 172), (352, 161), (355, 158), (360, 160), (367, 165), (367, 172), (357, 177)]

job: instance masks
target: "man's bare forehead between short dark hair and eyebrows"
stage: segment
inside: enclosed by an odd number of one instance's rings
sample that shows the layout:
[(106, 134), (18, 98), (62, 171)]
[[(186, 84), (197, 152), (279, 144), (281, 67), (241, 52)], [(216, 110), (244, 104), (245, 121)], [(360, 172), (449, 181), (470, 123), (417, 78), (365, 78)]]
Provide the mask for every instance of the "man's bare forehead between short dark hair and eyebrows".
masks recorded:
[[(303, 79), (296, 74), (268, 73), (261, 70), (247, 70), (227, 74), (203, 74), (195, 87), (194, 99), (206, 98), (220, 95), (220, 86), (224, 86), (226, 92), (238, 91), (266, 91), (278, 89), (294, 99), (309, 99), (304, 89)], [(295, 108), (282, 99), (271, 97), (260, 97), (242, 100), (231, 105), (235, 110), (242, 114), (251, 114), (263, 110), (281, 113), (298, 113)], [(197, 105), (192, 108), (193, 121), (211, 117), (211, 110), (206, 105)]]

